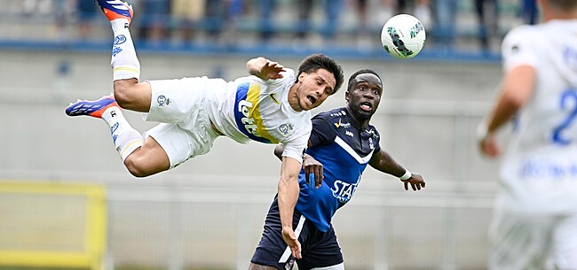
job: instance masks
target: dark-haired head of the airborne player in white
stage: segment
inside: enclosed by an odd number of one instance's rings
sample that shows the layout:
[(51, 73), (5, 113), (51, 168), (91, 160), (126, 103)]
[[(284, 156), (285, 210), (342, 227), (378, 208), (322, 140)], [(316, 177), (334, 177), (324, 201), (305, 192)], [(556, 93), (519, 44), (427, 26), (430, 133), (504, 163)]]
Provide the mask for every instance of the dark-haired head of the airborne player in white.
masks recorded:
[(296, 74), (296, 102), (301, 110), (318, 107), (343, 85), (343, 69), (332, 58), (314, 54), (304, 58)]

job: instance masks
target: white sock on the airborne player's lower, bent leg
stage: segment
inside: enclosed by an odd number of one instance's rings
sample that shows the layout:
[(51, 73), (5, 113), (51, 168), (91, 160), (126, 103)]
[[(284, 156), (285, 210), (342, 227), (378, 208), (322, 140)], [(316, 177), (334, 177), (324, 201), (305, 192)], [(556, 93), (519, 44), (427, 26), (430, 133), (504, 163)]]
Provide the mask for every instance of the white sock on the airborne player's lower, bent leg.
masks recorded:
[(130, 126), (119, 107), (107, 108), (102, 113), (102, 119), (110, 127), (110, 135), (120, 158), (126, 159), (130, 154), (142, 146), (144, 139), (138, 130)]

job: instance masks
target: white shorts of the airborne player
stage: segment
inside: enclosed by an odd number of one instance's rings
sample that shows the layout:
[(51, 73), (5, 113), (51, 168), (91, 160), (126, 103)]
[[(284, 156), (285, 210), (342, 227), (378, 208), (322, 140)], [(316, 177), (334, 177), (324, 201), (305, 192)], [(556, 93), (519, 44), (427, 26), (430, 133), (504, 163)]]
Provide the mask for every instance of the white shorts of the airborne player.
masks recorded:
[(217, 133), (210, 126), (205, 103), (207, 77), (148, 81), (152, 89), (146, 121), (161, 122), (146, 131), (169, 156), (170, 168), (206, 154)]

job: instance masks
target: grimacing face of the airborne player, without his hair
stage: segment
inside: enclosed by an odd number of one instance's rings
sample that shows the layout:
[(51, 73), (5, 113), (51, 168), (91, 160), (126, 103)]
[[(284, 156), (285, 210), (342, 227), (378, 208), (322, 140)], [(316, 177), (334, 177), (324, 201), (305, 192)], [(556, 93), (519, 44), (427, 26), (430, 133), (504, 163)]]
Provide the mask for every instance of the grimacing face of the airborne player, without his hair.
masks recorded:
[(335, 75), (325, 69), (313, 73), (301, 73), (299, 81), (301, 83), (296, 89), (296, 98), (298, 106), (303, 111), (320, 106), (335, 91)]

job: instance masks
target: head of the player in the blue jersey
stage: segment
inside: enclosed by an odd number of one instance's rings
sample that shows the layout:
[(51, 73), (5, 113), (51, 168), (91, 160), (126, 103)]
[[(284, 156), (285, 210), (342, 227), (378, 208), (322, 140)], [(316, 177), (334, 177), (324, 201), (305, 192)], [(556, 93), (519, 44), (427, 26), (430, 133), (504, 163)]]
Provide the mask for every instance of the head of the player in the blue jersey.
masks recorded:
[(346, 106), (354, 118), (363, 122), (371, 119), (381, 103), (383, 81), (370, 69), (363, 69), (351, 75), (344, 93)]

